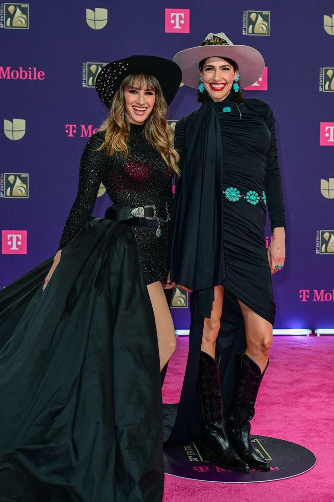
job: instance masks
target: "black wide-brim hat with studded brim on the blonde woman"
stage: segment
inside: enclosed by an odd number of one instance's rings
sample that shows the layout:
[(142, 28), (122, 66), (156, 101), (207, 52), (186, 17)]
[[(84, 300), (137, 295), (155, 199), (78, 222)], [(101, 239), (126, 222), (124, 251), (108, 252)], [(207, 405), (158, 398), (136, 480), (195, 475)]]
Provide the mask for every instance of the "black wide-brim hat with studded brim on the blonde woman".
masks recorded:
[(120, 84), (132, 73), (148, 73), (159, 82), (167, 104), (171, 104), (181, 84), (182, 72), (177, 63), (157, 56), (130, 56), (112, 61), (96, 77), (99, 98), (110, 108)]

